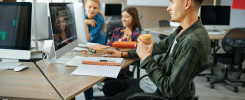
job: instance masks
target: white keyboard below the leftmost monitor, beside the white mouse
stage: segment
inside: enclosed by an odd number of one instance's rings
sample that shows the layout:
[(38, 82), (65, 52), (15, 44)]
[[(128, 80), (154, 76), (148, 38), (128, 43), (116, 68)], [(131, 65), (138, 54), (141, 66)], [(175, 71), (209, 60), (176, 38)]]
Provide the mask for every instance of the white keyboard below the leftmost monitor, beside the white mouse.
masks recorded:
[(21, 65), (17, 62), (0, 62), (0, 70), (14, 69), (15, 67)]

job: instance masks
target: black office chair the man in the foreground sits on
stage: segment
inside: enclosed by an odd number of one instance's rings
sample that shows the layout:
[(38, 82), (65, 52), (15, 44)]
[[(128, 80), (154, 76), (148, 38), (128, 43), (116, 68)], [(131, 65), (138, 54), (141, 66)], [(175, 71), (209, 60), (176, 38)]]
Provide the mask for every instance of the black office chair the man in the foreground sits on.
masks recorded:
[[(195, 95), (195, 84), (193, 82), (193, 79), (195, 78), (195, 76), (197, 76), (198, 74), (200, 74), (204, 70), (208, 69), (210, 66), (213, 66), (213, 59), (212, 58), (207, 65), (201, 67), (192, 76), (192, 80), (190, 81), (190, 83), (185, 86), (185, 88), (179, 93), (179, 95), (176, 98), (174, 98), (174, 100), (190, 100), (190, 99), (197, 100), (198, 97), (194, 97), (194, 95)], [(127, 100), (134, 100), (134, 99), (140, 100), (139, 98), (153, 98), (153, 99), (157, 99), (157, 100), (172, 100), (171, 98), (163, 97), (162, 95), (158, 95), (155, 93), (144, 93), (144, 92), (135, 93), (135, 94), (129, 96), (127, 98)]]

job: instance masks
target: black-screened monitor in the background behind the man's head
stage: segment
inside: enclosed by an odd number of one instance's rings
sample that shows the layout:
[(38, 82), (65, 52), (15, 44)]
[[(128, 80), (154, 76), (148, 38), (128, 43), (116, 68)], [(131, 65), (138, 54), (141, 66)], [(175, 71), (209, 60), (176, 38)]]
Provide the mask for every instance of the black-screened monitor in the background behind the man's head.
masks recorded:
[(200, 9), (202, 24), (208, 30), (225, 29), (230, 25), (230, 6), (203, 5)]

